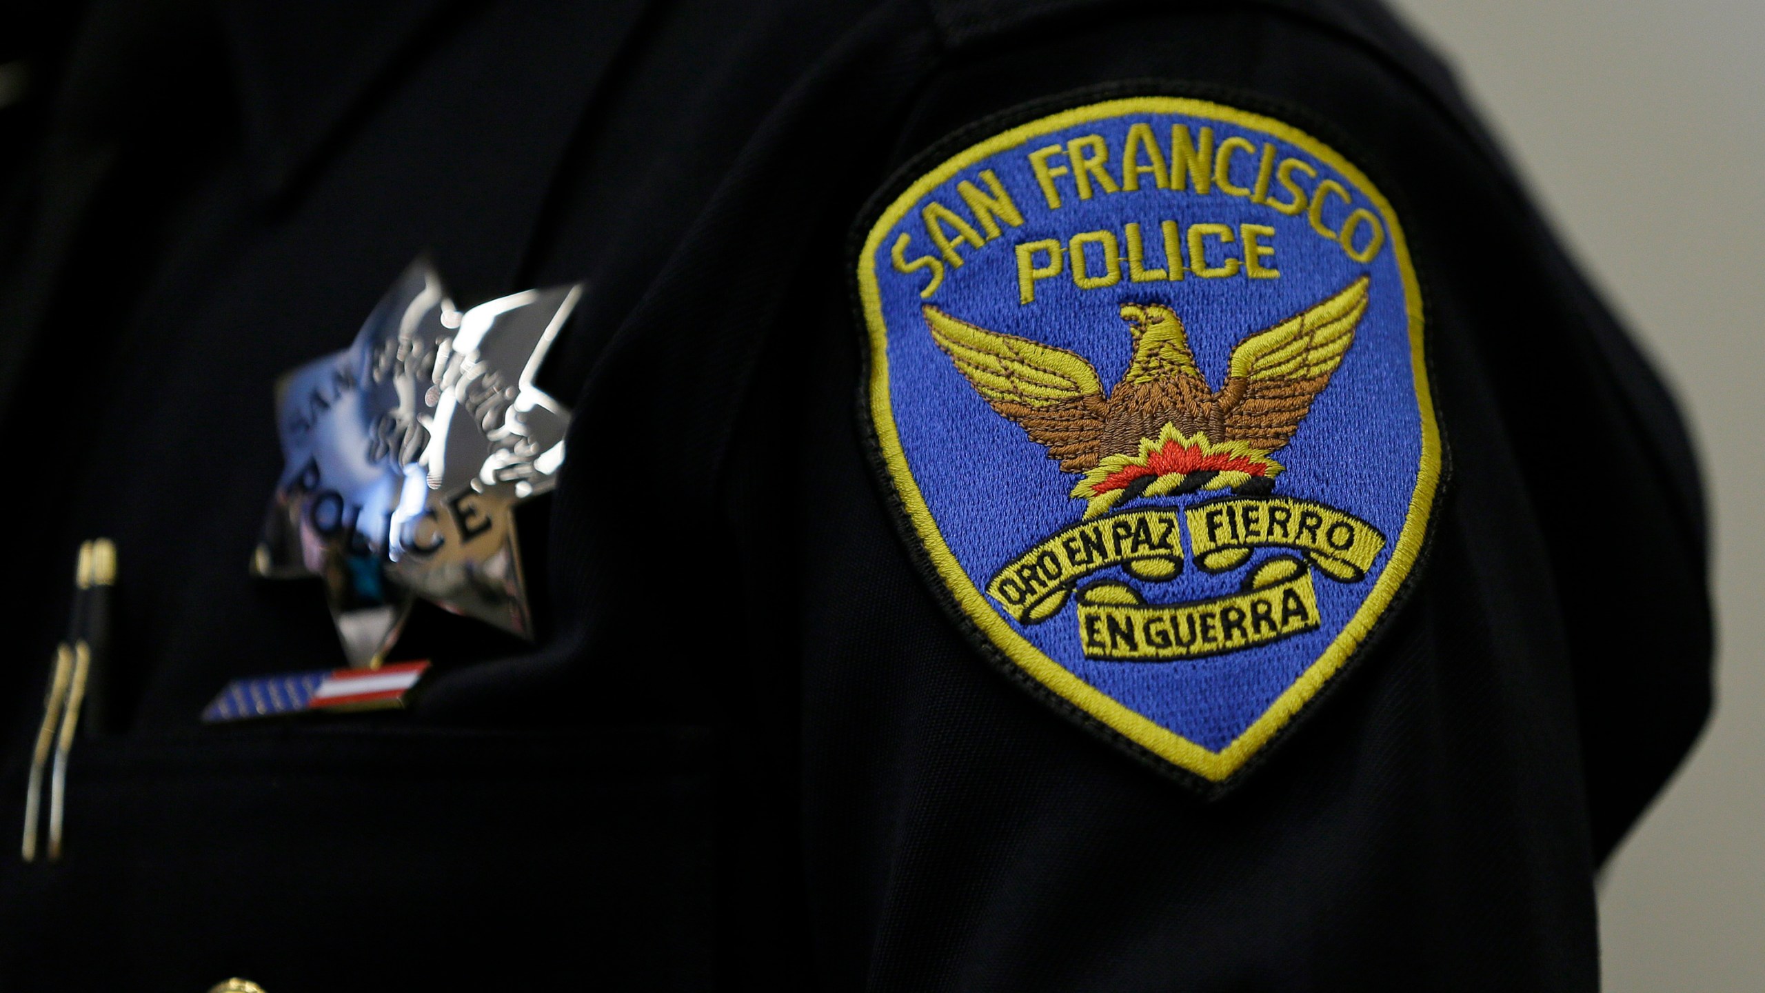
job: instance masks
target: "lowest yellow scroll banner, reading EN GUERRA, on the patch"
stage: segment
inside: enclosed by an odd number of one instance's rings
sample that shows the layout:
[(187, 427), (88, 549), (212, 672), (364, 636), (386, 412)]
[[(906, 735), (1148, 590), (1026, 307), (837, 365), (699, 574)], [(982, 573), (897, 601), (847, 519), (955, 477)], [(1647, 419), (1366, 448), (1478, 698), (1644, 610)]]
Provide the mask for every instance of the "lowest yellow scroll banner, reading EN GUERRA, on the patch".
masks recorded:
[(1133, 587), (1103, 581), (1078, 597), (1087, 659), (1168, 663), (1237, 652), (1318, 625), (1311, 571), (1292, 558), (1257, 567), (1241, 592), (1193, 603), (1145, 604)]

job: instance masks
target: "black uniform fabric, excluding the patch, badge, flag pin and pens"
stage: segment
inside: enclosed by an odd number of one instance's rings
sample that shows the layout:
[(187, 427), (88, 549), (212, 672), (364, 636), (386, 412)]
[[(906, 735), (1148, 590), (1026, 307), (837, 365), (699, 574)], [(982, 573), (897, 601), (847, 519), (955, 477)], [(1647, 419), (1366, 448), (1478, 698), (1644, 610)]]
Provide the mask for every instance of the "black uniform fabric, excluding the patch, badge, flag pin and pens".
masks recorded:
[[(115, 656), (65, 859), (0, 857), (0, 988), (1597, 988), (1592, 875), (1709, 710), (1694, 458), (1382, 9), (78, 23), (4, 173), (0, 829), (99, 534)], [(978, 118), (1147, 78), (1292, 104), (1394, 200), (1451, 456), (1380, 643), (1218, 800), (976, 656), (854, 412), (867, 200)], [(590, 286), (542, 373), (567, 468), (522, 516), (542, 638), (424, 611), (411, 710), (203, 728), (228, 678), (341, 664), (316, 585), (247, 574), (272, 383), (420, 251), (462, 306)]]

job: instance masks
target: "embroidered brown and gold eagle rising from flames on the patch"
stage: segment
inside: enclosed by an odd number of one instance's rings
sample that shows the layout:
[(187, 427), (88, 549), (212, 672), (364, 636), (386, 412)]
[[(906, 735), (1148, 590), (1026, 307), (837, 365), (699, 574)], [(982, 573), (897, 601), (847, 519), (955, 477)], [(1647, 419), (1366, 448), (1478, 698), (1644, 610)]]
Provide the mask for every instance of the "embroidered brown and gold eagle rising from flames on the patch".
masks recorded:
[(1366, 315), (1368, 277), (1232, 348), (1216, 392), (1163, 304), (1123, 304), (1133, 362), (1108, 394), (1082, 355), (999, 334), (927, 306), (932, 339), (974, 390), (1048, 458), (1084, 479), (1085, 518), (1137, 496), (1232, 488), (1267, 493), (1287, 445)]

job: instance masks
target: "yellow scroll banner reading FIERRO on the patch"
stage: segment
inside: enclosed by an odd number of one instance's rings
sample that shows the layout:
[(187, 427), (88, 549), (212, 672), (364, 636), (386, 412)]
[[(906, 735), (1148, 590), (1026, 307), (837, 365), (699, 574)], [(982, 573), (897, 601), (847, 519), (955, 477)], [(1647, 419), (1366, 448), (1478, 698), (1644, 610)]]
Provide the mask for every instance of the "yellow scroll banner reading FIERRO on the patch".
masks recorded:
[(1320, 572), (1361, 581), (1386, 535), (1347, 511), (1292, 496), (1227, 498), (1188, 509), (1190, 550), (1209, 572), (1243, 565), (1258, 548), (1304, 551)]

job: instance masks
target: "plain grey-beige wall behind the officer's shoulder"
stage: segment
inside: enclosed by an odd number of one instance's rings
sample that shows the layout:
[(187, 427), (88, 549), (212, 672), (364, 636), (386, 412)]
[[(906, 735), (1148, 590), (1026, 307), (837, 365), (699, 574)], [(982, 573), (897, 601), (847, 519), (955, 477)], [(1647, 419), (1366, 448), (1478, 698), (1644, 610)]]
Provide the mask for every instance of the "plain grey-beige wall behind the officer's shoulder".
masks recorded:
[[(1691, 415), (1717, 717), (1608, 868), (1613, 993), (1765, 989), (1765, 2), (1393, 0)], [(1613, 618), (1624, 624), (1634, 618)]]

